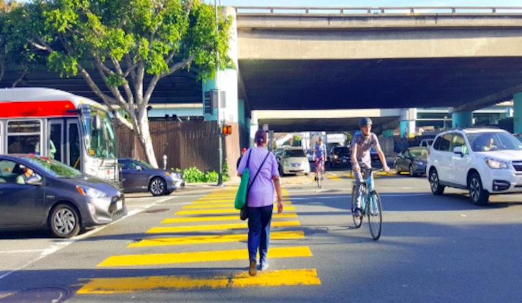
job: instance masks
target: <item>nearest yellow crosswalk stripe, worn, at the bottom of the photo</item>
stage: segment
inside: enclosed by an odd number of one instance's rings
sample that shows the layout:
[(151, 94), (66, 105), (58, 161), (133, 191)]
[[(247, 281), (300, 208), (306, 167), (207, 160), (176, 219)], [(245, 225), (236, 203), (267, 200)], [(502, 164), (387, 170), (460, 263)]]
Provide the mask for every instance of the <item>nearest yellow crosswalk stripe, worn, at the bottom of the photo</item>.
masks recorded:
[(241, 272), (231, 276), (223, 275), (207, 278), (193, 278), (190, 276), (95, 278), (89, 280), (76, 293), (85, 295), (320, 284), (321, 280), (317, 276), (316, 269), (282, 269), (259, 271), (255, 277)]

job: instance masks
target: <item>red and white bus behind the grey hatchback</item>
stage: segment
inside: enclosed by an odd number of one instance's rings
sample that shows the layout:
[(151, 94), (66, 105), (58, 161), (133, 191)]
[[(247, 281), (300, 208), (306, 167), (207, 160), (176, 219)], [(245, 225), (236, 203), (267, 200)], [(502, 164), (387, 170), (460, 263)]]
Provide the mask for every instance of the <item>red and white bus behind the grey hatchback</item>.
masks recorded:
[(117, 182), (116, 151), (98, 102), (51, 88), (0, 88), (0, 154), (40, 154)]

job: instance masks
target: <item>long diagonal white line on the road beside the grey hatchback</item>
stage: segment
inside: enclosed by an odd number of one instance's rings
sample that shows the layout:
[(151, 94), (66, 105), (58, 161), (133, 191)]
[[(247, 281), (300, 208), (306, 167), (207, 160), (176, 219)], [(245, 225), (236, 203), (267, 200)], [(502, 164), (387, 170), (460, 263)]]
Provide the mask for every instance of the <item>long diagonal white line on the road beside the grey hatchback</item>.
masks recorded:
[(51, 254), (54, 254), (55, 252), (58, 252), (58, 250), (61, 250), (62, 248), (67, 247), (70, 244), (72, 244), (72, 243), (74, 243), (74, 242), (76, 242), (78, 240), (82, 240), (84, 238), (87, 238), (87, 237), (91, 236), (91, 234), (95, 234), (96, 232), (99, 232), (100, 230), (103, 230), (107, 226), (111, 226), (114, 223), (117, 223), (117, 222), (122, 221), (122, 220), (124, 220), (124, 219), (126, 219), (128, 217), (136, 215), (137, 213), (141, 213), (142, 211), (146, 210), (147, 208), (155, 206), (156, 204), (159, 204), (161, 202), (165, 202), (166, 200), (168, 200), (170, 198), (172, 198), (172, 197), (163, 197), (161, 199), (157, 199), (154, 203), (147, 204), (145, 206), (141, 206), (140, 208), (137, 208), (135, 210), (130, 210), (130, 211), (128, 210), (127, 211), (127, 215), (125, 217), (117, 219), (116, 221), (113, 221), (113, 222), (111, 222), (109, 224), (106, 224), (106, 225), (103, 225), (103, 226), (98, 226), (97, 228), (94, 228), (93, 230), (89, 230), (89, 232), (85, 232), (84, 234), (80, 234), (79, 236), (73, 237), (71, 239), (63, 239), (61, 241), (58, 241), (56, 244), (52, 245), (51, 247), (49, 247), (49, 248), (47, 248), (45, 250), (40, 250), (40, 251), (42, 251), (42, 253), (40, 254), (40, 256), (38, 256), (34, 260), (31, 260), (30, 262), (26, 263), (25, 265), (21, 265), (20, 267), (18, 267), (16, 269), (13, 269), (12, 271), (8, 271), (7, 273), (1, 275), (0, 276), (0, 280), (2, 280), (3, 278), (9, 276), (10, 274), (13, 274), (16, 271), (19, 271), (19, 270), (24, 269), (25, 267), (27, 267), (29, 265), (32, 265), (33, 263), (36, 263), (36, 261), (41, 260), (41, 259), (45, 258), (46, 256), (49, 256)]

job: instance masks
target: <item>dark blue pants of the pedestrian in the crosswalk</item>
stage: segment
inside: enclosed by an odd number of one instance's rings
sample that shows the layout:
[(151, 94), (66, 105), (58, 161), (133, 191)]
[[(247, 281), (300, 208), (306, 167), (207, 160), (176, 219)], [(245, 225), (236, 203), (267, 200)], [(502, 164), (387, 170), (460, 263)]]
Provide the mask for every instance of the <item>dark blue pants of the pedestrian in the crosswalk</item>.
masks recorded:
[(259, 249), (260, 264), (266, 262), (269, 250), (272, 210), (273, 205), (249, 207), (249, 260), (257, 260)]

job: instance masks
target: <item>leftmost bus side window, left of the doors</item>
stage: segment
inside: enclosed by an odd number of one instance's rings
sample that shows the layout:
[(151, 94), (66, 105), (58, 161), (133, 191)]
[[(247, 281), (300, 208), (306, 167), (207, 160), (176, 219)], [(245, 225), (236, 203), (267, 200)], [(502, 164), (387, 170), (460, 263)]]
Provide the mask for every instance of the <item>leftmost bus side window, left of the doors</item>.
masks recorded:
[(8, 121), (8, 154), (32, 154), (40, 142), (41, 123), (38, 120)]

